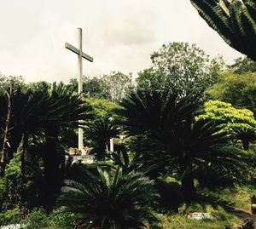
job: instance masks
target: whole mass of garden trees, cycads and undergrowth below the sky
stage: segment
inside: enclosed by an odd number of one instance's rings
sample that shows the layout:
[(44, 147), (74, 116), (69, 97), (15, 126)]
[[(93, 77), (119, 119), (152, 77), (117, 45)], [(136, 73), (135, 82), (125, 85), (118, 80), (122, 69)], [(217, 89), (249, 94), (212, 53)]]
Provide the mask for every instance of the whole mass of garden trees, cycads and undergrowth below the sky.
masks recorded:
[[(84, 77), (83, 94), (74, 79), (0, 77), (0, 225), (240, 222), (225, 208), (250, 206), (256, 195), (255, 63), (237, 59), (224, 69), (222, 57), (189, 43), (163, 45), (151, 60), (136, 83), (122, 72)], [(82, 151), (74, 148), (79, 127)], [(230, 192), (243, 199), (232, 203)], [(213, 219), (195, 223), (186, 216), (193, 211)]]

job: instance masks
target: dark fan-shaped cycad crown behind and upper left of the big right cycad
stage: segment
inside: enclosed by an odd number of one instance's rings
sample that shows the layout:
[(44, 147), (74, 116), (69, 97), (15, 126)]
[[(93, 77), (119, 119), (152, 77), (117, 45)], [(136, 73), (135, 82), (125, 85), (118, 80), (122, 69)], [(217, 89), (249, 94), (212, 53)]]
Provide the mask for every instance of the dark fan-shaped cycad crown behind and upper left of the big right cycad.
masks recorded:
[(179, 98), (171, 91), (133, 91), (120, 102), (122, 108), (116, 112), (123, 119), (129, 135), (154, 135), (170, 124), (189, 118), (199, 106), (198, 100), (190, 97)]

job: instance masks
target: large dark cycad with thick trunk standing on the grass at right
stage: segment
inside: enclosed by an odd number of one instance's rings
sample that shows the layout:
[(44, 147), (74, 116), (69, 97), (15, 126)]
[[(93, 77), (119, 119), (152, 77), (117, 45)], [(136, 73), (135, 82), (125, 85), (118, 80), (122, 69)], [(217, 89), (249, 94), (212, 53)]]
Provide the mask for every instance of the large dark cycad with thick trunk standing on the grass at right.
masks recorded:
[(196, 198), (194, 181), (198, 176), (200, 180), (201, 173), (207, 175), (211, 171), (231, 180), (243, 180), (247, 174), (247, 155), (232, 146), (220, 130), (218, 123), (184, 120), (160, 136), (163, 148), (172, 158), (169, 168), (181, 180), (183, 197), (188, 201)]

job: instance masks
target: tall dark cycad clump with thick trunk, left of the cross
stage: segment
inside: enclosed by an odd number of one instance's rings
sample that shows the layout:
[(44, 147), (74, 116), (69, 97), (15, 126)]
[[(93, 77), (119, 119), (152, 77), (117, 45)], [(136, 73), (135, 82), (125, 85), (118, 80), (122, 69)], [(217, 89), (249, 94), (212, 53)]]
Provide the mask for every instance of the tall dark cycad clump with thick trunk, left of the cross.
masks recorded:
[(90, 106), (63, 83), (54, 83), (50, 90), (17, 89), (11, 105), (8, 159), (17, 152), (22, 141), (24, 173), (29, 155), (36, 153), (29, 152), (30, 141), (36, 145), (39, 139), (43, 146), (41, 157), (44, 161), (44, 194), (47, 196), (44, 203), (53, 204), (55, 193), (61, 186), (60, 165), (65, 159), (63, 150), (60, 150), (60, 129), (78, 128), (81, 125), (79, 120), (90, 118)]

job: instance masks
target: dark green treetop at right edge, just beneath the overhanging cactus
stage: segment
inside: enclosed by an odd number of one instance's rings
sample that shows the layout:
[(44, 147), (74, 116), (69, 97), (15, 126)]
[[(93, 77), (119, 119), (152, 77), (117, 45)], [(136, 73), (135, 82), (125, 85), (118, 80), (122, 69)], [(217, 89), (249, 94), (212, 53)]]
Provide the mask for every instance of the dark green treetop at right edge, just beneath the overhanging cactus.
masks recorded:
[(228, 67), (231, 72), (239, 75), (247, 72), (256, 72), (256, 62), (247, 57), (239, 57), (235, 59), (235, 63)]

